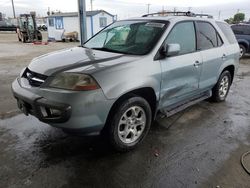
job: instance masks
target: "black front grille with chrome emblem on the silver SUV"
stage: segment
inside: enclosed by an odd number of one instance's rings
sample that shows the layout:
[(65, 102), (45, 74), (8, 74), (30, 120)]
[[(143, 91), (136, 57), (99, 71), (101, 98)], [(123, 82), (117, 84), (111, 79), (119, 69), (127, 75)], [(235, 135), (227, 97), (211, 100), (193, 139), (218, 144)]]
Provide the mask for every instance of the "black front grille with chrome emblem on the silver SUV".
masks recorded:
[(29, 81), (29, 84), (33, 87), (41, 86), (48, 78), (46, 75), (33, 72), (28, 68), (25, 70), (23, 77), (26, 78)]

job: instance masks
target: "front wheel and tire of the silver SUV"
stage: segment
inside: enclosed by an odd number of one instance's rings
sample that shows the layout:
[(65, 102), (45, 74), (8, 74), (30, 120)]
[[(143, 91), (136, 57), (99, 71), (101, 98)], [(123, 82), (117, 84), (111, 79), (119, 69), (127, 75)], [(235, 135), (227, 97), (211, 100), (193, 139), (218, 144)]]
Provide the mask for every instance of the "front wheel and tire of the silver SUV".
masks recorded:
[(144, 98), (133, 96), (121, 102), (109, 121), (107, 131), (111, 145), (121, 152), (134, 149), (146, 137), (151, 121), (152, 111)]

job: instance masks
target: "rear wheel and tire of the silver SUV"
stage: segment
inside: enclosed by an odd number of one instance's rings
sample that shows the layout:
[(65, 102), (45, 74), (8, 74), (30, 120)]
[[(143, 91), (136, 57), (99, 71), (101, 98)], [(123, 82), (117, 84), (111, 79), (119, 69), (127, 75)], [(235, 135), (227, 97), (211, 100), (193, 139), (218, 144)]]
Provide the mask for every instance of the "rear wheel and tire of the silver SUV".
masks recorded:
[(232, 76), (229, 71), (224, 71), (221, 73), (217, 84), (212, 90), (211, 101), (222, 102), (226, 100), (230, 86), (232, 83)]

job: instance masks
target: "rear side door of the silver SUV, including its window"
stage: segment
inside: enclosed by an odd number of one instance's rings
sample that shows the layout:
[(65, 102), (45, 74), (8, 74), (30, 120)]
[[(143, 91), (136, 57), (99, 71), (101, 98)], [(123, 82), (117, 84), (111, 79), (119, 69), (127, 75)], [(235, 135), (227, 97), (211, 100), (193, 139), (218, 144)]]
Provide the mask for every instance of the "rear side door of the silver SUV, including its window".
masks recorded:
[(221, 36), (211, 23), (197, 21), (196, 33), (197, 49), (201, 52), (203, 62), (199, 83), (202, 91), (215, 85), (219, 69), (226, 61), (227, 54)]

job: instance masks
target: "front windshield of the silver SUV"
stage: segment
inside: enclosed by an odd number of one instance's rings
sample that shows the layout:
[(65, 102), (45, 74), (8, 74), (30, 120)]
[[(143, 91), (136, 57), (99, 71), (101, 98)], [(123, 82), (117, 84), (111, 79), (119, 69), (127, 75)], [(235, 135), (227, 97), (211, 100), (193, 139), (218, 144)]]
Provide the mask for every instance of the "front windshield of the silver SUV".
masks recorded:
[(108, 26), (84, 47), (124, 54), (144, 55), (153, 49), (166, 29), (166, 22), (120, 21)]

